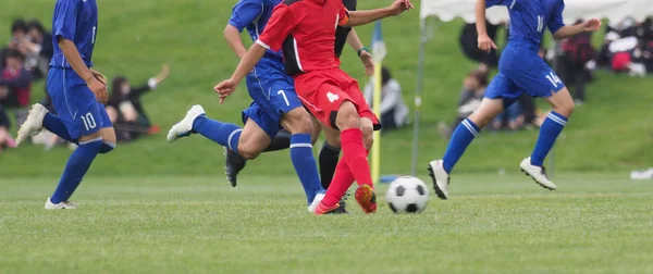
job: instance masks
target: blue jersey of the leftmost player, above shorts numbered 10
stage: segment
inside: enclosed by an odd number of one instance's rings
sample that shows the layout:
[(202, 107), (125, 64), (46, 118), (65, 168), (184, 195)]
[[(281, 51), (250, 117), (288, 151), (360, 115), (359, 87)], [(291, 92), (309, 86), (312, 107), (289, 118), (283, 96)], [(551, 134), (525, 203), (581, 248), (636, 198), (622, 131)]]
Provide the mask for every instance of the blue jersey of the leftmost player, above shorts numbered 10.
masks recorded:
[(96, 0), (57, 0), (52, 16), (52, 43), (54, 55), (50, 66), (71, 68), (59, 48), (59, 38), (71, 40), (77, 47), (84, 63), (93, 66), (90, 58), (98, 33), (98, 5)]

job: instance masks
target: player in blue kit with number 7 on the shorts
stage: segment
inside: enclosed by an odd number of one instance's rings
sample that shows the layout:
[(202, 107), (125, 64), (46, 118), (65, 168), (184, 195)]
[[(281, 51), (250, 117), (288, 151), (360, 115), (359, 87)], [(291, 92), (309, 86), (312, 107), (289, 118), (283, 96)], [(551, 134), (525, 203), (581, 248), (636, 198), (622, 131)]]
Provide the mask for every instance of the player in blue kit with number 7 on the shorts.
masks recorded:
[[(252, 41), (256, 41), (272, 15), (272, 10), (280, 2), (281, 0), (241, 0), (236, 3), (224, 32), (238, 58), (243, 58), (247, 51), (239, 40), (239, 33), (246, 28)], [(184, 120), (172, 126), (168, 141), (173, 142), (190, 133), (198, 133), (245, 159), (255, 159), (283, 126), (292, 134), (291, 159), (304, 186), (308, 210), (312, 212), (324, 197), (312, 154), (312, 121), (295, 94), (293, 78), (285, 73), (281, 52), (266, 52), (247, 76), (247, 89), (254, 103), (243, 111), (243, 116), (247, 120), (244, 128), (210, 120), (201, 105), (194, 105)]]

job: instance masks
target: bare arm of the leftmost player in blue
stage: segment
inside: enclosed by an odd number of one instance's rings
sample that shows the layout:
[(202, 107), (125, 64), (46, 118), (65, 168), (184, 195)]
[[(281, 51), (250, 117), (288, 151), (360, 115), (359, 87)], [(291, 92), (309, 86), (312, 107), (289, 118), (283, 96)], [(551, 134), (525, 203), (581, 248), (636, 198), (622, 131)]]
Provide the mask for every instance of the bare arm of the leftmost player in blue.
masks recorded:
[(65, 39), (61, 36), (58, 37), (58, 41), (59, 48), (65, 57), (65, 61), (67, 61), (71, 67), (73, 67), (73, 71), (75, 71), (75, 73), (82, 79), (84, 79), (84, 82), (86, 82), (88, 88), (96, 95), (97, 100), (101, 103), (106, 103), (109, 99), (109, 96), (107, 95), (106, 83), (101, 83), (100, 80), (96, 79), (95, 76), (100, 73), (96, 72), (94, 74), (93, 70), (86, 66), (86, 63), (84, 63), (84, 60), (82, 59), (82, 55), (79, 54), (79, 50), (77, 50), (75, 42)]

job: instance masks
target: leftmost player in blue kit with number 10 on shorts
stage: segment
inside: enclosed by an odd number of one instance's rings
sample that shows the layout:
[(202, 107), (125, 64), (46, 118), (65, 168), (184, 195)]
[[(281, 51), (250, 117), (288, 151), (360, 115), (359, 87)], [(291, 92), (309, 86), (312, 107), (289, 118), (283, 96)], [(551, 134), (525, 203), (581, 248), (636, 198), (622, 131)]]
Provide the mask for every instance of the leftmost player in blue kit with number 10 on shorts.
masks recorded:
[(57, 0), (52, 16), (54, 57), (48, 74), (48, 94), (58, 115), (41, 104), (33, 105), (16, 141), (46, 128), (75, 142), (77, 149), (65, 164), (59, 186), (46, 209), (75, 209), (69, 201), (98, 153), (115, 148), (115, 132), (104, 111), (107, 88), (103, 76), (90, 70), (98, 33), (96, 0)]

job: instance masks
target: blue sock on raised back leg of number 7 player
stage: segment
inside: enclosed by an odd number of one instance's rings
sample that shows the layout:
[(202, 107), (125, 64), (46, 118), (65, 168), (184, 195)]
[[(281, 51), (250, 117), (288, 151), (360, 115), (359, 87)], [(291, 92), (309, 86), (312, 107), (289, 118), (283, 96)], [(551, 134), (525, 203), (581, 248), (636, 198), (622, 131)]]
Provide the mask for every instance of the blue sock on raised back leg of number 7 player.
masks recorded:
[(243, 129), (237, 125), (222, 123), (200, 115), (193, 122), (193, 132), (201, 134), (204, 137), (238, 153), (238, 139), (241, 139)]

